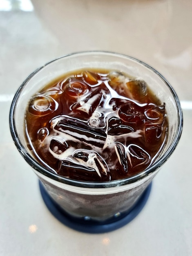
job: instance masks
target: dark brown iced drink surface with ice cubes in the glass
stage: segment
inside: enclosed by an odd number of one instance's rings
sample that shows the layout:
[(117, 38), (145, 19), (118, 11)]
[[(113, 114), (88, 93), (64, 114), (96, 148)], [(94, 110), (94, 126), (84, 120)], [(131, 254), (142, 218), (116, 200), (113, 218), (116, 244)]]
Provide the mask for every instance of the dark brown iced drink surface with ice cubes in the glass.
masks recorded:
[(145, 81), (81, 70), (29, 102), (26, 134), (38, 160), (81, 181), (130, 177), (150, 166), (167, 137), (165, 104)]

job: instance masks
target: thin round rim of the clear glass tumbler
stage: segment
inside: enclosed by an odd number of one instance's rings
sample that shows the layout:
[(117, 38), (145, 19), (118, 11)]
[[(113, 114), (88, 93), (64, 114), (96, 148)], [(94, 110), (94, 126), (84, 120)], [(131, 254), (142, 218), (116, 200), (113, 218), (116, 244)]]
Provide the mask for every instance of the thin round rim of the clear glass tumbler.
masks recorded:
[[(29, 153), (27, 152), (27, 150), (22, 145), (22, 143), (19, 139), (18, 132), (16, 130), (15, 120), (13, 117), (14, 117), (14, 113), (15, 113), (16, 103), (20, 96), (20, 92), (23, 90), (23, 88), (25, 87), (27, 82), (35, 74), (37, 74), (40, 70), (42, 70), (44, 67), (46, 67), (47, 65), (49, 65), (55, 61), (58, 61), (59, 59), (67, 58), (67, 57), (74, 56), (74, 55), (84, 55), (84, 54), (105, 54), (105, 55), (107, 54), (107, 55), (124, 57), (124, 58), (131, 59), (132, 61), (136, 61), (137, 63), (140, 63), (141, 65), (152, 70), (157, 76), (159, 76), (163, 80), (163, 82), (167, 85), (167, 87), (170, 89), (170, 92), (172, 93), (172, 96), (174, 97), (174, 100), (176, 103), (177, 115), (178, 115), (178, 127), (176, 130), (176, 135), (172, 141), (172, 144), (165, 151), (165, 153), (163, 153), (163, 155), (159, 159), (157, 159), (157, 161), (154, 162), (154, 164), (152, 164), (152, 166), (147, 167), (144, 171), (142, 171), (136, 175), (127, 177), (122, 180), (112, 180), (112, 181), (108, 181), (108, 182), (85, 182), (85, 181), (72, 180), (72, 179), (63, 177), (61, 175), (57, 175), (57, 174), (49, 171), (46, 167), (42, 166), (38, 161), (36, 161), (36, 159), (34, 159), (31, 155), (29, 155)], [(10, 108), (10, 113), (9, 113), (9, 127), (10, 127), (10, 132), (11, 132), (13, 141), (14, 141), (17, 149), (19, 150), (20, 154), (22, 155), (22, 157), (24, 157), (26, 162), (32, 168), (34, 168), (36, 171), (38, 171), (42, 175), (45, 175), (45, 176), (51, 178), (52, 180), (55, 180), (55, 181), (58, 181), (58, 182), (61, 182), (64, 184), (72, 185), (72, 186), (78, 186), (78, 187), (84, 187), (84, 188), (109, 188), (109, 187), (115, 187), (115, 186), (122, 186), (125, 184), (131, 184), (138, 180), (141, 180), (144, 177), (150, 175), (151, 173), (154, 173), (154, 171), (156, 171), (158, 168), (160, 168), (167, 161), (167, 159), (172, 155), (174, 149), (176, 148), (177, 144), (179, 143), (179, 139), (181, 137), (182, 128), (183, 128), (183, 113), (182, 113), (179, 98), (178, 98), (176, 92), (174, 91), (174, 89), (172, 88), (172, 86), (170, 85), (170, 83), (168, 83), (167, 80), (157, 70), (155, 70), (150, 65), (144, 63), (143, 61), (138, 60), (137, 58), (127, 56), (125, 54), (119, 54), (119, 53), (107, 52), (107, 51), (86, 51), (86, 52), (74, 52), (71, 54), (66, 54), (64, 56), (60, 56), (58, 58), (55, 58), (52, 61), (47, 62), (45, 65), (42, 65), (41, 67), (36, 69), (34, 72), (32, 72), (27, 77), (27, 79), (25, 79), (25, 81), (20, 85), (20, 87), (16, 91), (16, 94), (13, 97), (13, 101), (11, 103), (11, 108)]]

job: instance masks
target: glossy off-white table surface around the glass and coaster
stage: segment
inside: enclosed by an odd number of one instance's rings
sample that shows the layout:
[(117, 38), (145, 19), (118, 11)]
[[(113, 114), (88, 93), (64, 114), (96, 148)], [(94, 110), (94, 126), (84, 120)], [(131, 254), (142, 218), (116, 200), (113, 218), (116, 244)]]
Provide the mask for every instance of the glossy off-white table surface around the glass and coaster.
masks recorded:
[[(192, 1), (0, 0), (0, 256), (192, 255)], [(127, 54), (176, 90), (184, 126), (143, 211), (105, 234), (61, 224), (9, 132), (13, 94), (36, 68), (84, 50)]]

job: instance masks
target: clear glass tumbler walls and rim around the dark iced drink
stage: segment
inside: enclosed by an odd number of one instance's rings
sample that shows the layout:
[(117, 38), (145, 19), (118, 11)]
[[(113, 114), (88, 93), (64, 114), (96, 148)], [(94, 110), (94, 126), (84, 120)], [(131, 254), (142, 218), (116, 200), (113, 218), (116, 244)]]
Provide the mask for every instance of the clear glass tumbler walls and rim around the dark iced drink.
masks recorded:
[[(141, 77), (156, 96), (165, 102), (169, 135), (159, 158), (137, 175), (110, 182), (80, 182), (53, 173), (33, 157), (25, 139), (25, 112), (29, 99), (44, 85), (58, 76), (82, 68), (121, 70)], [(10, 130), (20, 154), (33, 168), (49, 196), (69, 215), (96, 221), (119, 216), (138, 202), (158, 173), (159, 168), (173, 153), (182, 132), (182, 110), (170, 84), (159, 72), (134, 58), (111, 52), (80, 52), (57, 58), (33, 72), (15, 94), (10, 110)], [(26, 170), (28, 171), (28, 170)]]

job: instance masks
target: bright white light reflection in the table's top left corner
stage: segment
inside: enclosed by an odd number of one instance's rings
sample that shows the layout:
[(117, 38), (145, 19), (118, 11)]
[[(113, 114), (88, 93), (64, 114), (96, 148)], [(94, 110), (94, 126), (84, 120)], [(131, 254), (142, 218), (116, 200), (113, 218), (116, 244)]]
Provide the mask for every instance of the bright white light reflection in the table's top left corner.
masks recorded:
[(30, 0), (0, 0), (0, 11), (33, 11)]

